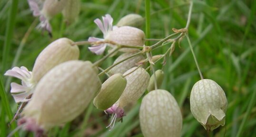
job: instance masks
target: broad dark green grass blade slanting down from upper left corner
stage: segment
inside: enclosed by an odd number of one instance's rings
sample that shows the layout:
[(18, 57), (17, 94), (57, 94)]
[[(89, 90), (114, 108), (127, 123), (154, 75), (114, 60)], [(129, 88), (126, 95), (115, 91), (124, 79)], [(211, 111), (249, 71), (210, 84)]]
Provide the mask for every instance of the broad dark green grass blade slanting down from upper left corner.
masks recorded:
[(18, 3), (19, 0), (12, 0), (9, 18), (7, 20), (7, 29), (5, 32), (5, 40), (4, 40), (4, 47), (3, 47), (3, 58), (2, 58), (2, 73), (5, 72), (7, 59), (10, 53), (10, 45), (13, 36), (13, 30), (15, 27), (15, 19), (18, 10)]

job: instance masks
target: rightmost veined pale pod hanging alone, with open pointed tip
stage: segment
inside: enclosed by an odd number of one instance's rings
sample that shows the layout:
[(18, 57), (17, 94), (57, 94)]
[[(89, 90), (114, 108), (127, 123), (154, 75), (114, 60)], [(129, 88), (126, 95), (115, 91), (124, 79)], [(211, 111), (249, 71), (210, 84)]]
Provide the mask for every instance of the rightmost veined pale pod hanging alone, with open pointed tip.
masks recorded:
[(206, 130), (225, 125), (227, 100), (225, 92), (213, 80), (195, 83), (190, 94), (190, 110)]

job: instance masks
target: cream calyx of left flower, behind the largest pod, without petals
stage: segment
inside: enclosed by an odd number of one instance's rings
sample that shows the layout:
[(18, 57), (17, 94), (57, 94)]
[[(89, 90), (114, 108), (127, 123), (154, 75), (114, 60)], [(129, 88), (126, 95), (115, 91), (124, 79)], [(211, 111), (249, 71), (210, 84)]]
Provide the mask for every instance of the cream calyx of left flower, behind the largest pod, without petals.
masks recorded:
[(59, 38), (49, 44), (37, 57), (32, 70), (33, 80), (39, 80), (54, 66), (79, 58), (79, 48), (68, 38)]

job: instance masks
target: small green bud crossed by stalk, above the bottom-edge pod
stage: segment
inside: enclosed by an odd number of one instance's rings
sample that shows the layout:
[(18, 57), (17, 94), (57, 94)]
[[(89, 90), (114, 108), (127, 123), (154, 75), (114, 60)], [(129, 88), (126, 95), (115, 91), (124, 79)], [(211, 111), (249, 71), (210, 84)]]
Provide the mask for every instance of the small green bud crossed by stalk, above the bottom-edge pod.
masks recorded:
[[(156, 74), (156, 78), (157, 78), (157, 86), (159, 88), (164, 80), (164, 72), (162, 70), (157, 70), (155, 72), (155, 74)], [(154, 74), (152, 74), (150, 77), (150, 81), (149, 81), (147, 89), (148, 89), (148, 91), (155, 90), (155, 75)]]

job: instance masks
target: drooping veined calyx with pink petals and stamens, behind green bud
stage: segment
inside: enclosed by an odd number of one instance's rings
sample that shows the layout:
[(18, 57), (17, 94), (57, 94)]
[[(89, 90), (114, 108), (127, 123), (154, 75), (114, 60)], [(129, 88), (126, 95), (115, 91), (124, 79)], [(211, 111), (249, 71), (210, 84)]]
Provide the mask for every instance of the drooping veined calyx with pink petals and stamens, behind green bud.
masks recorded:
[(141, 67), (139, 68), (133, 67), (129, 69), (127, 72), (125, 72), (124, 75), (128, 73), (131, 73), (131, 74), (126, 76), (126, 80), (127, 80), (126, 88), (123, 91), (122, 95), (120, 96), (119, 100), (105, 111), (108, 114), (114, 114), (111, 120), (111, 123), (108, 125), (108, 127), (110, 128), (114, 127), (115, 121), (117, 118), (122, 118), (125, 116), (125, 112), (123, 108), (128, 103), (137, 101), (148, 87), (150, 76), (145, 69)]

